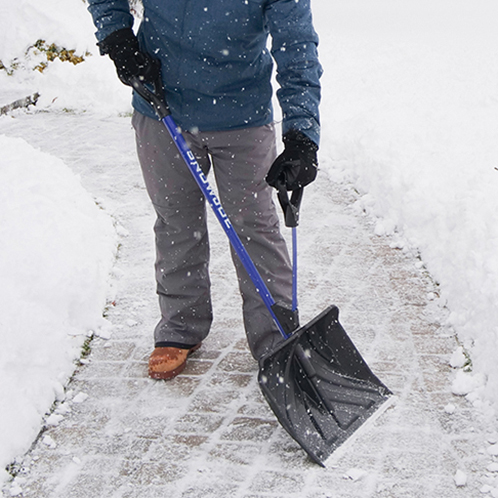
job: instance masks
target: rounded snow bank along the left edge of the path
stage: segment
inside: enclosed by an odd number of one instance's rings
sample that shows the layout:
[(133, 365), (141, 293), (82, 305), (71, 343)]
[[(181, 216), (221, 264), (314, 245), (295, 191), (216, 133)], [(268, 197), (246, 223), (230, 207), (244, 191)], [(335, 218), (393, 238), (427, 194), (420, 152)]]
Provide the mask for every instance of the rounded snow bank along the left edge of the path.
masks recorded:
[[(116, 236), (62, 161), (0, 135), (0, 469), (23, 454), (102, 310)], [(4, 475), (0, 475), (0, 480)]]

